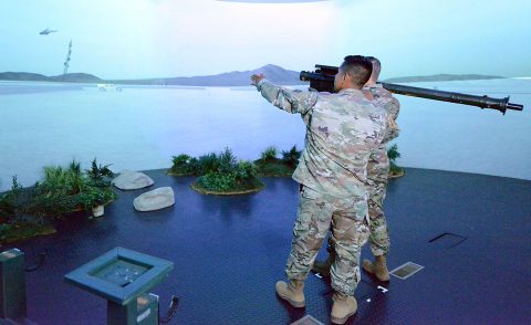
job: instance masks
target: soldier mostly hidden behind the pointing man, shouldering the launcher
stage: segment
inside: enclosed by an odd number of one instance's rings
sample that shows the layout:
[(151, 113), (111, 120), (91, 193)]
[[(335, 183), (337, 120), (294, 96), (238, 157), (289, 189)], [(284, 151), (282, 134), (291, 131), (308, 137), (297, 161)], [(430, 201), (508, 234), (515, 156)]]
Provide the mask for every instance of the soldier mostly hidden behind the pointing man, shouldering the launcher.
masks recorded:
[[(389, 251), (389, 233), (384, 214), (384, 199), (389, 174), (389, 158), (387, 157), (386, 144), (398, 136), (398, 126), (395, 120), (398, 117), (400, 104), (382, 85), (376, 84), (382, 64), (378, 59), (367, 56), (373, 63), (373, 73), (365, 84), (364, 90), (369, 91), (369, 97), (377, 106), (384, 107), (391, 114), (392, 120), (383, 143), (371, 154), (367, 165), (367, 190), (368, 190), (368, 214), (371, 228), (371, 251), (375, 262), (364, 260), (363, 270), (374, 274), (379, 281), (389, 281), (386, 254)], [(312, 271), (330, 276), (330, 268), (335, 260), (333, 243), (329, 239), (329, 258), (324, 262), (316, 261)]]

